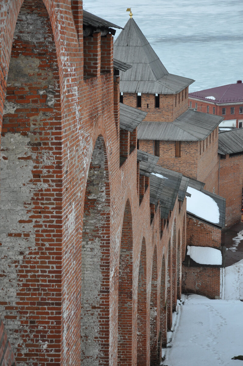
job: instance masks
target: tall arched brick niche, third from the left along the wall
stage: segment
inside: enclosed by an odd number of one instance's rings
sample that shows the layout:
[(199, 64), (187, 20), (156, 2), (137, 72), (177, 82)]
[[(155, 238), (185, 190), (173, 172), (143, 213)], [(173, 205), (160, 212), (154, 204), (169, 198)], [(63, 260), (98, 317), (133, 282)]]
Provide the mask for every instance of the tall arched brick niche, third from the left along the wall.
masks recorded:
[(122, 224), (118, 284), (118, 365), (132, 365), (132, 212), (127, 200)]

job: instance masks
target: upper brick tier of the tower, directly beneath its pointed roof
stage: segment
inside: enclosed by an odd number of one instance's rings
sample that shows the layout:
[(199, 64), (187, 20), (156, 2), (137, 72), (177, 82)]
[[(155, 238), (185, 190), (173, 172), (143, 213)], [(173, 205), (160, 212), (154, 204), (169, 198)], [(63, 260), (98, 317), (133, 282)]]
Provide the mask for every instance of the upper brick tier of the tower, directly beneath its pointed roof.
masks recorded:
[[(188, 87), (176, 94), (160, 94), (159, 108), (155, 108), (155, 94), (143, 94), (141, 95), (141, 109), (147, 112), (145, 121), (153, 122), (173, 122), (183, 112), (188, 109)], [(183, 93), (183, 101), (182, 101)], [(180, 98), (179, 98), (180, 94)], [(175, 105), (176, 100), (176, 105)], [(180, 102), (179, 102), (180, 100)], [(136, 93), (123, 93), (123, 103), (130, 105), (131, 107), (137, 108), (137, 94)]]

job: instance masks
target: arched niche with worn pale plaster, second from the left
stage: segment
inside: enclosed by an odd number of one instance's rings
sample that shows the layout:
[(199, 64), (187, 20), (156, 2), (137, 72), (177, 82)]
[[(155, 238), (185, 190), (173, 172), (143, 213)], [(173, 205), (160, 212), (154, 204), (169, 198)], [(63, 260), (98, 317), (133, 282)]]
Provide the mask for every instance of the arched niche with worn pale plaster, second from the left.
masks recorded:
[(102, 136), (88, 172), (81, 251), (81, 365), (108, 366), (110, 188)]

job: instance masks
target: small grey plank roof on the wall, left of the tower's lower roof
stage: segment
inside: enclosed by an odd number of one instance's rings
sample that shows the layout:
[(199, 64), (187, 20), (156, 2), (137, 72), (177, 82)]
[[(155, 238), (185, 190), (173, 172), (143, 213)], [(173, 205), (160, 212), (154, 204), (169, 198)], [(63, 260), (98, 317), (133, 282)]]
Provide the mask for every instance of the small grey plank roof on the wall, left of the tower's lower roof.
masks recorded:
[(132, 132), (147, 116), (147, 112), (120, 103), (120, 128)]

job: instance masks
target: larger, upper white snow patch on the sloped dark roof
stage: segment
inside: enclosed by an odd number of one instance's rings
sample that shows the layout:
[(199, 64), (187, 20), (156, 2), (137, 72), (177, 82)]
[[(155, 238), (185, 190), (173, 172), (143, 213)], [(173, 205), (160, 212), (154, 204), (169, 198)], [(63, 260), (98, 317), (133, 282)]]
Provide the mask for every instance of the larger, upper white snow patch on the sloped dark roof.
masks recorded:
[(188, 212), (212, 224), (219, 224), (219, 206), (212, 197), (191, 187), (187, 187), (187, 193), (191, 194), (191, 197), (186, 199)]

